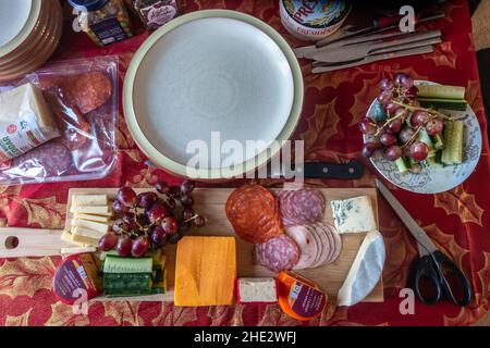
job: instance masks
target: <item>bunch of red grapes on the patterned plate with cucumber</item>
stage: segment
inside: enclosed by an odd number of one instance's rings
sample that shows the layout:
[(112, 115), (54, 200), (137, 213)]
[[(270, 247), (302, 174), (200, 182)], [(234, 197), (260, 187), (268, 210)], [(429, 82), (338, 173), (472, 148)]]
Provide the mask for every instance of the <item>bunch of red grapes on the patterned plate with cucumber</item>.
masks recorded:
[(424, 161), (429, 147), (417, 140), (418, 133), (426, 129), (429, 136), (442, 133), (444, 123), (438, 111), (420, 108), (417, 102), (418, 89), (414, 80), (405, 74), (397, 74), (394, 80), (383, 78), (378, 102), (382, 105), (387, 119), (377, 122), (364, 117), (359, 123), (365, 137), (363, 156), (370, 158), (378, 150), (389, 161), (401, 157)]

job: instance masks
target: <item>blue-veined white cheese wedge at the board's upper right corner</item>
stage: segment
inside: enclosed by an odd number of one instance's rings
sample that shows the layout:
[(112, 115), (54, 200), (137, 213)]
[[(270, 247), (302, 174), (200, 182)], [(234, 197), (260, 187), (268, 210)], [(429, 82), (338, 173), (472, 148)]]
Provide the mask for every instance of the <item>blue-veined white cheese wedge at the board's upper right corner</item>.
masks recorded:
[(378, 231), (371, 199), (368, 196), (332, 200), (330, 204), (335, 228), (340, 234)]

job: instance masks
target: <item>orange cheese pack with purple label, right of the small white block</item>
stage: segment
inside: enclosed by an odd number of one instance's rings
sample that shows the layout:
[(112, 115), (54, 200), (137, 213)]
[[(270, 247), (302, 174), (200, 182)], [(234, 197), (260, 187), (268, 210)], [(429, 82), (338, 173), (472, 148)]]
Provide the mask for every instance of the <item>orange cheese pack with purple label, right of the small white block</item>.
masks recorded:
[(318, 285), (293, 272), (278, 276), (279, 306), (293, 319), (310, 321), (321, 315), (327, 307), (327, 295)]

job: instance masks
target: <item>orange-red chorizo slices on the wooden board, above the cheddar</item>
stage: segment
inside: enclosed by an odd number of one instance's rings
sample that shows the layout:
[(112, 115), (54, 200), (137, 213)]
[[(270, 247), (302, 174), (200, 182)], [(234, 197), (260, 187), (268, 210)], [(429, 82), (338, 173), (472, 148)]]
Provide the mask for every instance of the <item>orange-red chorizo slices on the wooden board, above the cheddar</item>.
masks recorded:
[(282, 234), (278, 201), (260, 185), (235, 189), (225, 211), (235, 233), (248, 243), (262, 244)]

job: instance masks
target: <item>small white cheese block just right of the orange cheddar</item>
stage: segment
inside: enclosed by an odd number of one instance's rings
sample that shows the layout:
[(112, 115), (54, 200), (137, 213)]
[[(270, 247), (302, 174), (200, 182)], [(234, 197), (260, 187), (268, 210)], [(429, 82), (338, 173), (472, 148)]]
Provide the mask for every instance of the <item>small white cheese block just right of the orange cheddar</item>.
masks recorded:
[(278, 286), (274, 278), (240, 278), (238, 303), (277, 303)]

